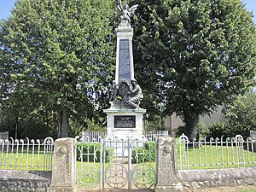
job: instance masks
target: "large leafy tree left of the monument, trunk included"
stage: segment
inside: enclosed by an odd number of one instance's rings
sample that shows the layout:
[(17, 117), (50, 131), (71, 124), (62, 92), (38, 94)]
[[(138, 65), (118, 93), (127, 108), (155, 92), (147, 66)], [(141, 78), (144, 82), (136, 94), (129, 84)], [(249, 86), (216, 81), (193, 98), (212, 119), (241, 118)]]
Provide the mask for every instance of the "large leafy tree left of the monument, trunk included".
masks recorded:
[[(20, 0), (0, 23), (1, 102), (24, 115), (92, 117), (113, 71), (112, 0)], [(10, 103), (10, 102), (15, 103)]]

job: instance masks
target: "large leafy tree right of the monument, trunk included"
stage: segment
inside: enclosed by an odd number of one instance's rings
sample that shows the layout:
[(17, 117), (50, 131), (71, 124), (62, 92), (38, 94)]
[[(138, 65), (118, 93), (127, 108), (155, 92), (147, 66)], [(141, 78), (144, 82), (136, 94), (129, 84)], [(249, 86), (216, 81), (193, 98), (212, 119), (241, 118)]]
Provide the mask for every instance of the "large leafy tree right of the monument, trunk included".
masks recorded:
[(153, 98), (165, 114), (183, 117), (192, 139), (200, 115), (232, 101), (253, 84), (253, 15), (240, 0), (130, 3), (139, 4), (132, 23), (135, 71), (144, 100)]

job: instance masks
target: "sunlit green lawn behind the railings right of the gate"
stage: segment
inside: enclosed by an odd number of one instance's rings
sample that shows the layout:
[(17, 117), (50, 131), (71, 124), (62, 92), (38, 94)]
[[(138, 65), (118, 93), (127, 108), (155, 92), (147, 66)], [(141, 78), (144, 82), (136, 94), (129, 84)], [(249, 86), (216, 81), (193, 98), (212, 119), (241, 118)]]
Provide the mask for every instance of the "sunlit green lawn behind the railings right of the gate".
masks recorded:
[(216, 169), (256, 166), (256, 153), (230, 146), (203, 145), (198, 148), (178, 148), (179, 169)]

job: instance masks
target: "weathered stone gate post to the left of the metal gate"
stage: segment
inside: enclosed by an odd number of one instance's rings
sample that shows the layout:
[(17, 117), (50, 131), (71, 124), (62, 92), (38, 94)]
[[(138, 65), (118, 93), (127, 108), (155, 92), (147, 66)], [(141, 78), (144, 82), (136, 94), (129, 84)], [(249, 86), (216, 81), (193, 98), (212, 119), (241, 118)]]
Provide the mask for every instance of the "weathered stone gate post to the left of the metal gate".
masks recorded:
[(47, 192), (75, 192), (74, 139), (55, 141), (51, 183)]

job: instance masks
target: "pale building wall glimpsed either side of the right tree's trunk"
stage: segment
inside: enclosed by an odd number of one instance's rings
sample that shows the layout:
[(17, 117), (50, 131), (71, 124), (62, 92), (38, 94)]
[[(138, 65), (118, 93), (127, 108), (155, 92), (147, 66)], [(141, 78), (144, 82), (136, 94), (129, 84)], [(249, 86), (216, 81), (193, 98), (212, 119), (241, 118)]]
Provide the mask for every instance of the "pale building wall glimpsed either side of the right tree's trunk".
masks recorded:
[[(218, 106), (218, 108), (211, 115), (201, 116), (199, 119), (204, 125), (212, 125), (213, 123), (217, 123), (221, 120), (221, 111), (223, 106)], [(171, 116), (166, 116), (165, 126), (166, 130), (170, 132), (171, 137), (175, 137), (177, 127), (182, 126), (183, 120), (176, 115), (176, 113), (172, 113)]]

